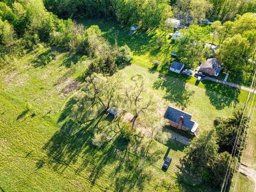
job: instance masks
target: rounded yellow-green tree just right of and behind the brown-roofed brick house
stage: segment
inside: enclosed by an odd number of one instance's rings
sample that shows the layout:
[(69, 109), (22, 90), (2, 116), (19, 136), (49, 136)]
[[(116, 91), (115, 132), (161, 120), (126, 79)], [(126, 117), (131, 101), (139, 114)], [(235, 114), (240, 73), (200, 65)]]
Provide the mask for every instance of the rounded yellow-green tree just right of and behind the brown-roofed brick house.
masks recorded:
[(246, 58), (249, 54), (249, 41), (240, 34), (237, 34), (223, 41), (221, 49), (217, 53), (217, 58), (227, 70), (238, 71), (242, 70), (245, 66)]

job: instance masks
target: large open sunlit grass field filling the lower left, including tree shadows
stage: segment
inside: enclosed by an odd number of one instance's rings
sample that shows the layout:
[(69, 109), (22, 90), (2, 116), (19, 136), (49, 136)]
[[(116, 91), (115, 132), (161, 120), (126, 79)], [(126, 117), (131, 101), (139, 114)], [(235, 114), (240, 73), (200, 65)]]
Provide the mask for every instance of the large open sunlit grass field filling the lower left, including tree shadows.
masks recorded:
[[(49, 63), (42, 62), (50, 55)], [(83, 71), (71, 61), (77, 61), (75, 55), (42, 47), (0, 70), (1, 190), (214, 191), (201, 181), (177, 180), (184, 148), (177, 141), (155, 142), (162, 154), (153, 164), (132, 154), (122, 138), (100, 149), (92, 146), (94, 124), (79, 126), (63, 114), (72, 93), (64, 97), (60, 87)], [(101, 126), (113, 125), (101, 118)], [(173, 161), (163, 172), (167, 155)]]

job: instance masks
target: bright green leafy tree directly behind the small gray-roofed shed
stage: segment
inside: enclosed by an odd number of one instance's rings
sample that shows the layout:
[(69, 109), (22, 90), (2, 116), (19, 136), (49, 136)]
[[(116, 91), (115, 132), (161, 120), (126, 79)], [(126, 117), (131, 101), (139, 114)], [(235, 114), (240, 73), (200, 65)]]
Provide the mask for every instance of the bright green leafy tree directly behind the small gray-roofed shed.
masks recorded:
[(204, 44), (210, 36), (210, 28), (191, 25), (190, 29), (182, 29), (180, 33), (182, 35), (176, 44), (180, 61), (190, 67), (205, 61), (207, 48)]

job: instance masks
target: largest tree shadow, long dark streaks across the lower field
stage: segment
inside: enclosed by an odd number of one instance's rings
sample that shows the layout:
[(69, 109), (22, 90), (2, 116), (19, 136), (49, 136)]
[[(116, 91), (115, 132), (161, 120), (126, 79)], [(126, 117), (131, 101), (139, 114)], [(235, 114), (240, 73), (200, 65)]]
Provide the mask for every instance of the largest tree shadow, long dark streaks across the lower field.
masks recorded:
[(45, 163), (58, 172), (64, 172), (68, 167), (76, 167), (72, 168), (74, 172), (90, 180), (91, 187), (101, 182), (102, 177), (106, 179), (108, 174), (107, 182), (118, 191), (131, 191), (134, 186), (142, 190), (147, 175), (141, 174), (138, 161), (140, 157), (127, 151), (129, 140), (118, 135), (113, 143), (105, 142), (100, 148), (92, 145), (93, 134), (88, 130), (101, 121), (100, 116), (82, 127), (71, 119), (67, 120), (60, 131), (45, 144), (44, 150), (47, 151), (48, 158), (40, 159), (37, 169), (41, 169)]

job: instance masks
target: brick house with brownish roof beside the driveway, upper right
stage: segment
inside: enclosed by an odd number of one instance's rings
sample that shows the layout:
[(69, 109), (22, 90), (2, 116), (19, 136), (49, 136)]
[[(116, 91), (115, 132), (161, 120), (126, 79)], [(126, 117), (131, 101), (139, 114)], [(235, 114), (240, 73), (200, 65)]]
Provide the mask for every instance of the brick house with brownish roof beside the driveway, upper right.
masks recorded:
[(207, 59), (200, 66), (201, 72), (216, 77), (220, 74), (221, 69), (221, 62), (216, 58)]

